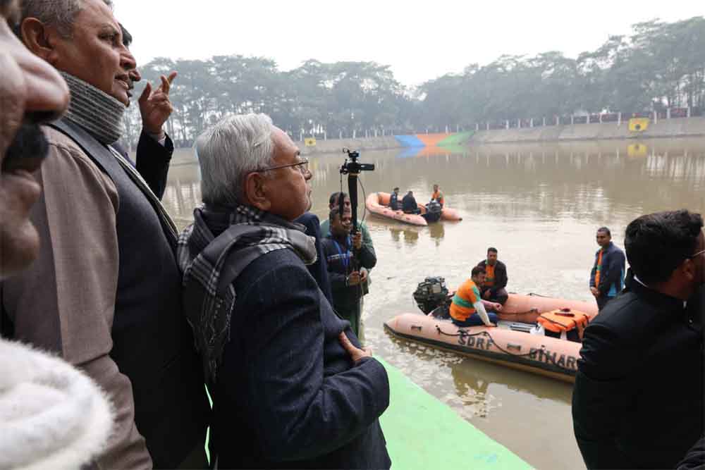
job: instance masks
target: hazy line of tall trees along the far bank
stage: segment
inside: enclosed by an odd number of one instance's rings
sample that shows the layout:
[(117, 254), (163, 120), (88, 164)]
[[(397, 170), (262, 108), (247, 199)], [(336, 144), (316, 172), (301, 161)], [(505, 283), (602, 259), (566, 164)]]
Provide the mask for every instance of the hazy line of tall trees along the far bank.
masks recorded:
[[(572, 113), (704, 109), (705, 18), (637, 23), (630, 35), (608, 37), (577, 58), (559, 51), (504, 55), (419, 87), (405, 87), (389, 66), (375, 62), (311, 59), (283, 71), (271, 58), (231, 55), (159, 57), (140, 67), (153, 83), (171, 70), (179, 76), (167, 126), (180, 147), (231, 113), (267, 113), (298, 140), (470, 130), (478, 123)], [(125, 130), (134, 145), (140, 132), (136, 104), (125, 113)]]

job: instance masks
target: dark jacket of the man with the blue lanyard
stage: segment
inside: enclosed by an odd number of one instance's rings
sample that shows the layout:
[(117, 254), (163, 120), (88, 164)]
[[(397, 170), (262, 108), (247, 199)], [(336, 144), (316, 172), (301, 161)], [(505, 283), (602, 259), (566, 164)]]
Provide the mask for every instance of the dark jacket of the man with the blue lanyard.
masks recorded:
[[(362, 285), (348, 285), (345, 278), (353, 272), (353, 266), (345, 267), (344, 256), (350, 253), (350, 245), (342, 244), (333, 240), (332, 235), (325, 237), (321, 244), (328, 266), (328, 276), (331, 280), (331, 291), (333, 292), (333, 305), (336, 307), (350, 307), (355, 305), (357, 300), (363, 295)], [(340, 252), (338, 251), (340, 248)], [(377, 264), (374, 249), (369, 249), (362, 244), (362, 248), (357, 253), (358, 263), (362, 268), (372, 269)]]

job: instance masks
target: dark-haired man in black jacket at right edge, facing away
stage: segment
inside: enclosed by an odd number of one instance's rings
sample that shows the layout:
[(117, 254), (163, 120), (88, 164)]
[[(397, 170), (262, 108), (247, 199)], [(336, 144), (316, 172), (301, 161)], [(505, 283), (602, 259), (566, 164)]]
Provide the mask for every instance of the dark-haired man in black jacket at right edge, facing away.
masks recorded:
[(585, 328), (572, 395), (589, 469), (673, 469), (703, 433), (702, 226), (685, 210), (627, 226), (627, 285)]

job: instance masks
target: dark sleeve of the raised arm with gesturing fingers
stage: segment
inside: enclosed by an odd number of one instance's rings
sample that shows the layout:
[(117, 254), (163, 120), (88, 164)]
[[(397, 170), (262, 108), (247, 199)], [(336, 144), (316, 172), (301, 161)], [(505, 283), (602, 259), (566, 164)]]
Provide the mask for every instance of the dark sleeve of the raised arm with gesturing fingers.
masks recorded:
[(166, 135), (166, 142), (161, 145), (154, 140), (147, 132), (142, 131), (140, 134), (140, 142), (137, 142), (137, 164), (130, 159), (125, 148), (117, 142), (112, 144), (118, 154), (125, 157), (137, 171), (145, 178), (145, 182), (149, 185), (149, 189), (161, 199), (166, 190), (166, 179), (169, 173), (169, 163), (174, 152), (174, 144), (171, 142), (171, 137)]

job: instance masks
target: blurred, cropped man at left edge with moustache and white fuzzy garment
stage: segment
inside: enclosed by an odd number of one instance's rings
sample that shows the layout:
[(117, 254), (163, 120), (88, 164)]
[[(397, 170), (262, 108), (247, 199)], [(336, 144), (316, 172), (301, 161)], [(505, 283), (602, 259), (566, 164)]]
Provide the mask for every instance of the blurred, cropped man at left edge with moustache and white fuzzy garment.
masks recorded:
[[(37, 257), (28, 215), (39, 197), (32, 172), (47, 155), (38, 124), (68, 104), (56, 70), (12, 34), (17, 13), (16, 1), (0, 0), (0, 281)], [(5, 326), (0, 317), (0, 332)], [(85, 374), (0, 339), (0, 469), (78, 469), (103, 449), (111, 426), (109, 402)]]

